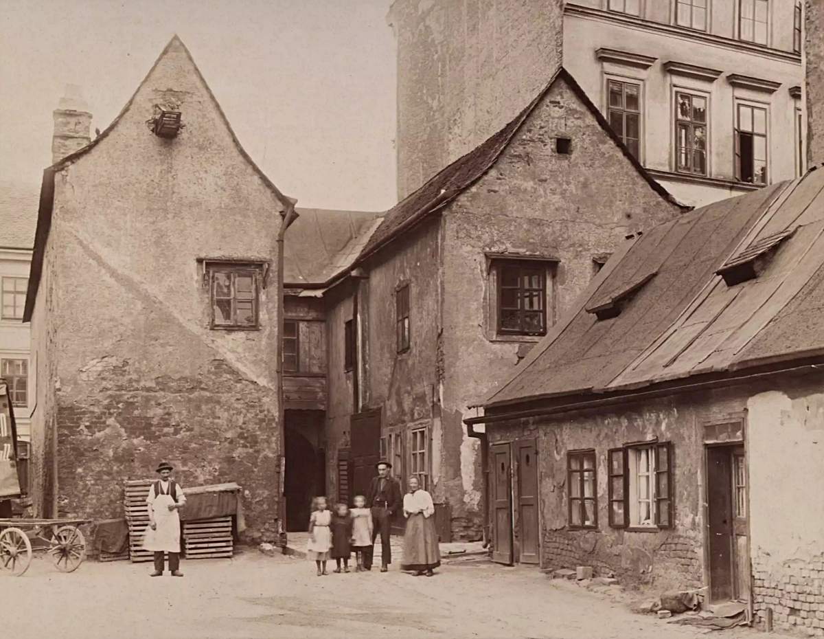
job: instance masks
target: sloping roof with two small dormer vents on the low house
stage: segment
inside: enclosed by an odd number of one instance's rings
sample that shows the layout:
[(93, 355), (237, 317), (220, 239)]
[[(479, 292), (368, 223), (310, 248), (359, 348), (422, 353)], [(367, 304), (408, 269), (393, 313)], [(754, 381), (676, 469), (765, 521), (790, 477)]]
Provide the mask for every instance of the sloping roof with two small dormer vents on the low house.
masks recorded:
[[(730, 286), (718, 275), (768, 244), (755, 279)], [(652, 272), (617, 317), (587, 312)], [(812, 355), (824, 355), (822, 170), (709, 204), (625, 246), (485, 406), (628, 392)]]

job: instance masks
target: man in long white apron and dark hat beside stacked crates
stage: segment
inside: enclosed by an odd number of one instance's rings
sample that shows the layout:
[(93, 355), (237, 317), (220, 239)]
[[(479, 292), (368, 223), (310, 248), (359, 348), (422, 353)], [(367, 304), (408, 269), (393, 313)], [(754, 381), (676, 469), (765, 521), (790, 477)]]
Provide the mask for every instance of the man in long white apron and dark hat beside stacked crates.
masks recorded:
[(152, 577), (163, 574), (163, 555), (169, 553), (169, 570), (176, 577), (182, 577), (180, 568), (180, 514), (177, 510), (186, 503), (183, 489), (172, 479), (174, 468), (162, 462), (157, 467), (160, 480), (153, 482), (146, 498), (149, 511), (149, 528), (143, 538), (143, 548), (154, 552), (155, 571)]

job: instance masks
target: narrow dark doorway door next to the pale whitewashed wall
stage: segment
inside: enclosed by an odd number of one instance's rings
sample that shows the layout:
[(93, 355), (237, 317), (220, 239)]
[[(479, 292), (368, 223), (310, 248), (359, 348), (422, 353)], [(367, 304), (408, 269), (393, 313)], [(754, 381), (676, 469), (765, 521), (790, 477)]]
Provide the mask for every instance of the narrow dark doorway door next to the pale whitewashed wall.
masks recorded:
[(747, 466), (740, 445), (707, 449), (709, 597), (748, 599)]

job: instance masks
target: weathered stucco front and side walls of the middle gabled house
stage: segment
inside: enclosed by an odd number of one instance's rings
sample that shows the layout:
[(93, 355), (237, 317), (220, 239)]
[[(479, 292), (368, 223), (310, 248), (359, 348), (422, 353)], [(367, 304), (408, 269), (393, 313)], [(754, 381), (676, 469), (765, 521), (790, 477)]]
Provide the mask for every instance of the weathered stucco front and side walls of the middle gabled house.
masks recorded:
[[(396, 475), (409, 476), (411, 433), (423, 431), (428, 490), (450, 510), (452, 538), (480, 538), (484, 478), (478, 444), (466, 436), (462, 420), (496, 388), (500, 371), (540, 340), (499, 333), (496, 265), (516, 259), (544, 270), (551, 326), (588, 286), (604, 254), (627, 235), (681, 212), (630, 162), (596, 114), (560, 73), (489, 170), (438, 214), (358, 262), (359, 275), (326, 294), (333, 494), (332, 464), (335, 450), (351, 439), (349, 417), (377, 410), (382, 452)], [(559, 151), (558, 139), (569, 140), (569, 149)], [(410, 348), (398, 352), (394, 307), (405, 285)], [(353, 317), (358, 364), (344, 372), (344, 322)]]

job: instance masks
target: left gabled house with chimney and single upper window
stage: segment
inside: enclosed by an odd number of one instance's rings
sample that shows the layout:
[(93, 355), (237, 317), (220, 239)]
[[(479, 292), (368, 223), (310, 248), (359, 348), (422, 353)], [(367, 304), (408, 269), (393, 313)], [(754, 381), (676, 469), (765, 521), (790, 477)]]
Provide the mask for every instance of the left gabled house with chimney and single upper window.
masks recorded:
[(166, 460), (183, 485), (241, 484), (247, 533), (271, 538), (290, 201), (177, 37), (91, 143), (86, 115), (55, 117), (26, 299), (36, 514), (119, 516), (122, 482)]

